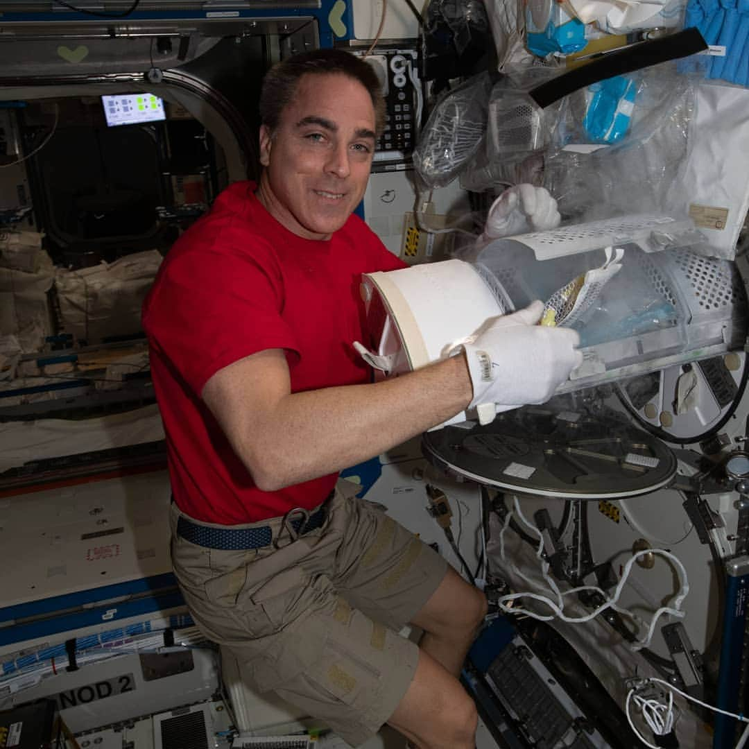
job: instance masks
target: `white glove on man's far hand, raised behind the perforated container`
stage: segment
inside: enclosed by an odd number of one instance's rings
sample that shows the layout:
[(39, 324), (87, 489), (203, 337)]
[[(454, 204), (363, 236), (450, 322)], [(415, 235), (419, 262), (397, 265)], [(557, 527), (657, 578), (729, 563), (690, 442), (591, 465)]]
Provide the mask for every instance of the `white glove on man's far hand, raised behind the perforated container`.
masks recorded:
[(506, 189), (491, 204), (484, 235), (487, 239), (512, 237), (526, 231), (546, 231), (560, 225), (557, 201), (545, 187), (531, 184)]

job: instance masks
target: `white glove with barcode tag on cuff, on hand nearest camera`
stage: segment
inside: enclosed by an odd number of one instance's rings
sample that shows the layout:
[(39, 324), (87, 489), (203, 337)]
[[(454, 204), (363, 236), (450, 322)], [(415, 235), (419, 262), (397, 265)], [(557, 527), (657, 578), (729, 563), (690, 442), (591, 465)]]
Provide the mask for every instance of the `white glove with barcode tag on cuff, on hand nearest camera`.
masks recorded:
[(492, 318), (450, 354), (465, 352), (473, 385), (470, 408), (488, 424), (497, 410), (544, 403), (583, 361), (577, 331), (536, 325), (544, 305)]

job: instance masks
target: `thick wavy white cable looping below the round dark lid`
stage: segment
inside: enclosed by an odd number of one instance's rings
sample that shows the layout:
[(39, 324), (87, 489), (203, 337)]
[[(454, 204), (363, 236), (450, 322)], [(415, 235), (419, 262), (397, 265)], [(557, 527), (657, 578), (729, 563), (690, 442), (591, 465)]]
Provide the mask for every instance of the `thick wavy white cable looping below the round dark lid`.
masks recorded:
[[(629, 577), (629, 574), (632, 569), (632, 565), (634, 565), (634, 562), (642, 557), (644, 554), (660, 554), (664, 557), (667, 557), (667, 559), (674, 562), (676, 565), (676, 571), (679, 575), (679, 583), (681, 584), (681, 587), (679, 589), (679, 592), (676, 594), (673, 602), (673, 607), (667, 607), (662, 606), (660, 607), (655, 614), (652, 616), (652, 619), (650, 621), (650, 625), (648, 627), (646, 637), (644, 637), (643, 640), (637, 640), (634, 643), (629, 643), (631, 649), (633, 650), (639, 650), (641, 648), (647, 647), (650, 644), (650, 641), (652, 640), (652, 636), (655, 632), (655, 625), (658, 623), (658, 619), (663, 616), (664, 613), (668, 613), (671, 616), (676, 616), (678, 618), (682, 618), (685, 616), (685, 612), (681, 610), (682, 602), (684, 601), (686, 595), (689, 592), (689, 582), (687, 578), (687, 571), (684, 568), (684, 565), (682, 565), (681, 560), (679, 560), (678, 557), (675, 557), (673, 554), (671, 554), (669, 551), (664, 551), (663, 549), (645, 549), (643, 551), (638, 551), (636, 554), (633, 554), (632, 557), (628, 560), (628, 562), (625, 565), (624, 571), (622, 572), (622, 577), (619, 580), (619, 584), (616, 586), (616, 589), (614, 590), (614, 594), (611, 598), (607, 598), (606, 593), (601, 590), (601, 588), (598, 588), (597, 586), (579, 586), (577, 588), (573, 588), (570, 590), (566, 590), (565, 592), (560, 592), (559, 587), (557, 586), (557, 583), (554, 582), (554, 580), (551, 578), (551, 576), (548, 574), (549, 565), (548, 562), (543, 560), (542, 554), (543, 554), (543, 536), (541, 531), (530, 521), (525, 518), (523, 515), (523, 512), (520, 509), (520, 502), (518, 500), (518, 497), (515, 497), (515, 512), (517, 513), (518, 517), (521, 518), (521, 521), (533, 530), (533, 532), (536, 534), (536, 536), (539, 537), (539, 547), (536, 550), (536, 557), (542, 561), (541, 565), (541, 571), (542, 575), (544, 577), (544, 580), (546, 581), (547, 585), (551, 589), (551, 591), (554, 593), (555, 597), (557, 598), (557, 602), (551, 600), (551, 598), (548, 597), (548, 595), (540, 595), (533, 592), (519, 592), (519, 593), (510, 593), (509, 595), (503, 595), (499, 598), (497, 601), (500, 608), (505, 611), (512, 611), (512, 613), (524, 613), (527, 616), (530, 616), (533, 619), (539, 619), (544, 622), (548, 622), (551, 619), (554, 619), (555, 617), (558, 619), (561, 619), (562, 622), (568, 622), (570, 624), (583, 624), (584, 622), (589, 622), (591, 619), (595, 619), (596, 616), (598, 616), (599, 613), (602, 611), (610, 608), (613, 609), (619, 613), (621, 613), (623, 616), (628, 616), (631, 619), (634, 619), (636, 622), (641, 622), (641, 619), (639, 616), (636, 616), (631, 611), (628, 611), (625, 608), (619, 607), (616, 605), (617, 601), (619, 601), (619, 597), (622, 594), (622, 589), (625, 586), (625, 583), (627, 581), (627, 578)], [(506, 521), (506, 524), (509, 524), (509, 520)], [(504, 550), (503, 544), (500, 547), (501, 551)], [(515, 568), (515, 565), (512, 565)], [(518, 571), (517, 568), (515, 568), (515, 571)], [(529, 580), (525, 575), (521, 574), (521, 577), (524, 581), (533, 584), (534, 587), (540, 588), (538, 583), (533, 583), (531, 580)], [(583, 590), (589, 590), (592, 592), (596, 592), (599, 595), (601, 595), (602, 598), (606, 599), (606, 602), (604, 604), (601, 604), (598, 608), (593, 610), (591, 613), (587, 614), (586, 616), (567, 616), (563, 609), (564, 609), (564, 596), (565, 595), (572, 595), (574, 593), (583, 591)], [(519, 598), (533, 598), (536, 601), (541, 601), (543, 604), (551, 608), (552, 614), (551, 615), (542, 615), (539, 613), (536, 613), (534, 611), (522, 608), (522, 607), (515, 607), (511, 605), (507, 605), (509, 601), (516, 601)]]

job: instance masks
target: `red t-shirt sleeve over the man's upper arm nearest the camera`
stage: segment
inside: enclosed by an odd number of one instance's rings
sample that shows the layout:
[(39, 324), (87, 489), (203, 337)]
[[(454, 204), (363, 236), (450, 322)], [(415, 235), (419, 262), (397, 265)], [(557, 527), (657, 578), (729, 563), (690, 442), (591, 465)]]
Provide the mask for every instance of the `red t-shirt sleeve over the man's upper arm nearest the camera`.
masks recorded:
[(143, 324), (151, 345), (198, 396), (219, 369), (250, 354), (298, 351), (282, 318), (280, 271), (256, 255), (209, 250), (167, 258), (147, 300)]

